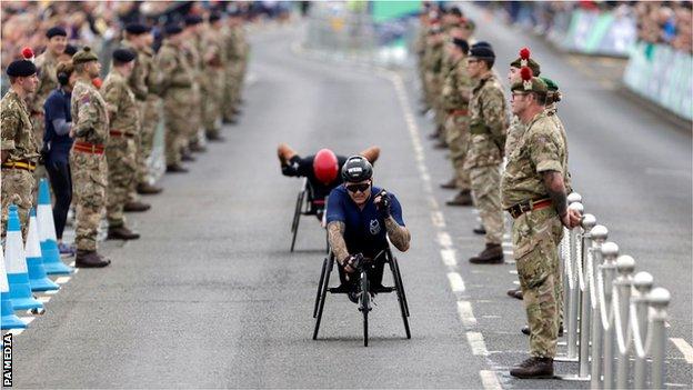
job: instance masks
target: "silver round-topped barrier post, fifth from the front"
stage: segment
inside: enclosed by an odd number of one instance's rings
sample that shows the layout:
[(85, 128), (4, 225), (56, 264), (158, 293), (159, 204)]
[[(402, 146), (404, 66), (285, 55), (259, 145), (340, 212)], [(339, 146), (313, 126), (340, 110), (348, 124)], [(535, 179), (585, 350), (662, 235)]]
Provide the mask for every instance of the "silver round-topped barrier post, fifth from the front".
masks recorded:
[(589, 249), (587, 258), (587, 277), (590, 282), (590, 302), (592, 306), (592, 366), (590, 373), (590, 387), (599, 389), (600, 387), (600, 362), (601, 362), (601, 344), (602, 344), (602, 324), (600, 319), (600, 304), (596, 297), (596, 274), (597, 267), (602, 262), (602, 246), (609, 238), (609, 229), (602, 224), (597, 224), (590, 231), (592, 237), (592, 248)]

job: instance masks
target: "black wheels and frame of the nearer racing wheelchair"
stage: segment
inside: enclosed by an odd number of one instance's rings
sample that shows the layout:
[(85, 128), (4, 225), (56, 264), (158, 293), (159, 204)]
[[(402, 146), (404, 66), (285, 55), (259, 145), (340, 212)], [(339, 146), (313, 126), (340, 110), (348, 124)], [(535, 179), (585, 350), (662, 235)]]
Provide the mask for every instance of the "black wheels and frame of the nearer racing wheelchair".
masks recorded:
[[(361, 270), (361, 280), (359, 283), (359, 311), (363, 314), (363, 346), (368, 347), (369, 336), (368, 336), (368, 313), (372, 310), (370, 300), (371, 292), (374, 293), (390, 293), (396, 292), (398, 301), (400, 304), (400, 311), (402, 313), (402, 321), (404, 323), (404, 331), (406, 333), (406, 338), (411, 339), (411, 332), (409, 329), (409, 303), (406, 302), (406, 294), (404, 292), (404, 286), (402, 283), (402, 273), (400, 272), (400, 266), (398, 263), (396, 258), (392, 254), (390, 247), (384, 250), (385, 259), (384, 261), (390, 266), (390, 271), (392, 272), (392, 280), (394, 281), (393, 287), (383, 287), (378, 291), (370, 291), (370, 283), (366, 277), (365, 270)], [(334, 254), (332, 251), (329, 252), (328, 258), (322, 261), (322, 271), (320, 272), (320, 281), (318, 282), (318, 293), (315, 296), (315, 304), (313, 307), (313, 318), (315, 319), (315, 328), (313, 330), (313, 340), (318, 339), (318, 331), (320, 330), (320, 322), (322, 320), (322, 311), (324, 309), (324, 302), (330, 293), (346, 293), (348, 291), (339, 290), (338, 288), (330, 288), (330, 274), (332, 273), (332, 269), (334, 268), (335, 262)], [(339, 267), (339, 266), (338, 266)]]

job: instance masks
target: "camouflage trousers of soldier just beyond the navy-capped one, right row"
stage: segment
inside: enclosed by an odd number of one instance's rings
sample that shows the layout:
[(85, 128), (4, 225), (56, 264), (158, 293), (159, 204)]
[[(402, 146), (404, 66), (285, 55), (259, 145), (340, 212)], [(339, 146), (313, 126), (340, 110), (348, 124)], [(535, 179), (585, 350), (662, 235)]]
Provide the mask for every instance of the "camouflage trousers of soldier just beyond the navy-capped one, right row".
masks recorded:
[(450, 160), (455, 172), (456, 187), (462, 191), (472, 189), (469, 170), (464, 169), (469, 140), (469, 117), (449, 114), (445, 121), (445, 142), (450, 148)]

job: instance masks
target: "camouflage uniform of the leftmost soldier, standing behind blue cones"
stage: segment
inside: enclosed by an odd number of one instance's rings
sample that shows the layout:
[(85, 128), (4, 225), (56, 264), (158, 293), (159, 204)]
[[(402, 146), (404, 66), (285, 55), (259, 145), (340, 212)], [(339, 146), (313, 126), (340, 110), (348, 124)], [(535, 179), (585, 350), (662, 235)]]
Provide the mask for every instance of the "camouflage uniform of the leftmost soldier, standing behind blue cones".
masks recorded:
[[(4, 237), (10, 203), (17, 204), (22, 232), (27, 232), (29, 209), (33, 203), (36, 179), (31, 167), (39, 159), (39, 147), (31, 127), (27, 102), (10, 89), (0, 101), (0, 129), (2, 151), (9, 153), (2, 163), (2, 231)], [(23, 164), (11, 167), (13, 163)]]

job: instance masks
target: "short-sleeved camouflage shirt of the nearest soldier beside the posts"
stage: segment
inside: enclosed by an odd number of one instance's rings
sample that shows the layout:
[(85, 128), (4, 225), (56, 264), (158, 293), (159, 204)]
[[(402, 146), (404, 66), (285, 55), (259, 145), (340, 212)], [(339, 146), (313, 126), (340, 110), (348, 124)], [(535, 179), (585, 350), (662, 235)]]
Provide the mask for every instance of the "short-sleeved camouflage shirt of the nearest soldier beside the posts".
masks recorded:
[(548, 198), (542, 172), (556, 171), (566, 177), (568, 146), (561, 129), (545, 111), (538, 113), (518, 140), (501, 179), (503, 208)]

